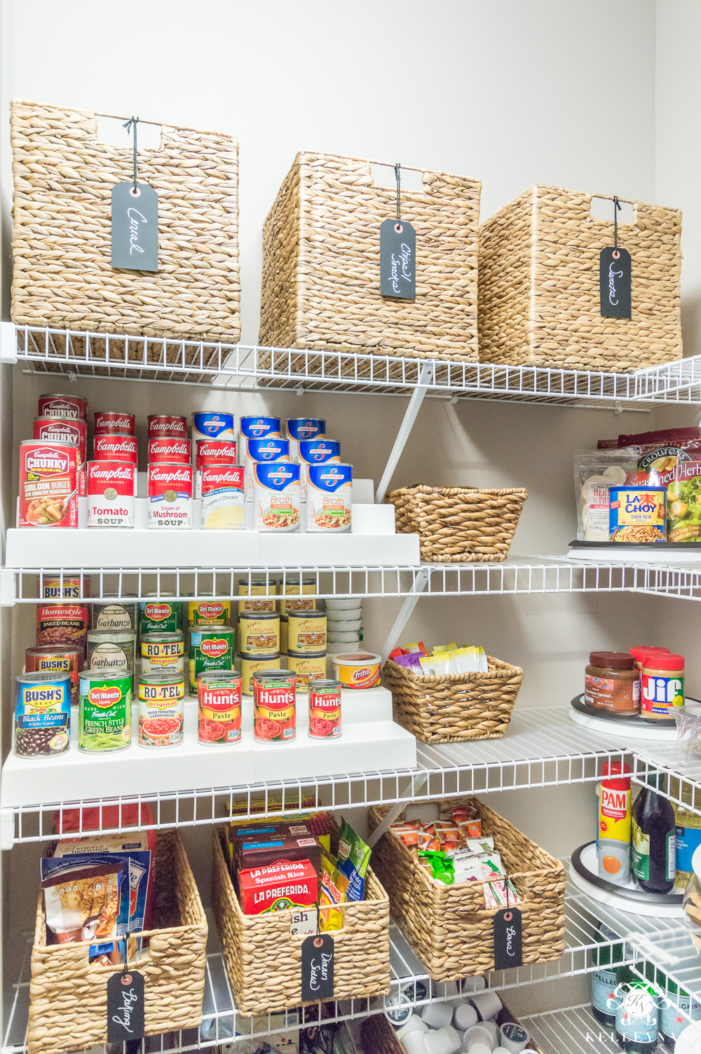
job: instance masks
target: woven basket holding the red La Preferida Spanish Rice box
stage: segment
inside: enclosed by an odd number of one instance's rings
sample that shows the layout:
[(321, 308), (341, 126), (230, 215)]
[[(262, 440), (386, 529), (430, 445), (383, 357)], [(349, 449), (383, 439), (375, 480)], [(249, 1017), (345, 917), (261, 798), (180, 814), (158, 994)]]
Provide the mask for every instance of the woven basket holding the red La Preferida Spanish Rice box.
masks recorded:
[[(245, 915), (214, 839), (212, 906), (239, 1014), (267, 1014), (301, 1004), (301, 935), (290, 933), (291, 910)], [(344, 911), (334, 941), (333, 998), (352, 999), (389, 992), (389, 900), (371, 868), (366, 899)]]

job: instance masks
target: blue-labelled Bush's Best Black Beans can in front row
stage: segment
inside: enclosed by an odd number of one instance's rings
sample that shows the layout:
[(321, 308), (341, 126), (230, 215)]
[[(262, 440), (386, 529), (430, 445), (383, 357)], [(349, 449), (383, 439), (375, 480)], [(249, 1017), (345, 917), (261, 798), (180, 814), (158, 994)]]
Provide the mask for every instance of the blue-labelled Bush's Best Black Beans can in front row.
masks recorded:
[(71, 745), (71, 672), (20, 674), (15, 679), (15, 754), (48, 758)]

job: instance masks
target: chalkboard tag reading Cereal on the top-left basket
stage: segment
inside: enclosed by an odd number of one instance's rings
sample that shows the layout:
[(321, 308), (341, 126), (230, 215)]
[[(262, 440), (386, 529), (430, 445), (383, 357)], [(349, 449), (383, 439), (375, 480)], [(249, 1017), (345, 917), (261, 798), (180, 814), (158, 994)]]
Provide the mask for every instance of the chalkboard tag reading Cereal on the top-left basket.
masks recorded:
[(112, 188), (112, 266), (158, 270), (158, 195), (148, 183)]

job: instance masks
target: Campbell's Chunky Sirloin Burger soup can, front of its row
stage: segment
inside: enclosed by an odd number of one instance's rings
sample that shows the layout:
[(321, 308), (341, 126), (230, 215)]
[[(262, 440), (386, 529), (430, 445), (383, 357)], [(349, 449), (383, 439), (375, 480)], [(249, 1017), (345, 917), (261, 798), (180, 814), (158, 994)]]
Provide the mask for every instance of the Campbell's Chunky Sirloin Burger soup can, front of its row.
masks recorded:
[(78, 448), (71, 443), (20, 443), (20, 527), (78, 526)]

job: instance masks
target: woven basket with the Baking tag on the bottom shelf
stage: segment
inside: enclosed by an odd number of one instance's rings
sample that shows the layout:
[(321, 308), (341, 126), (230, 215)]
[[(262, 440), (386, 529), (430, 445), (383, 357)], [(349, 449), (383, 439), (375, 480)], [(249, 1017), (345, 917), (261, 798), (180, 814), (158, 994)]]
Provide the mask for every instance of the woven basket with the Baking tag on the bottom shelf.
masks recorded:
[[(180, 838), (159, 832), (155, 852), (155, 921), (144, 931), (145, 1034), (196, 1029), (202, 1020), (207, 918)], [(108, 1038), (106, 984), (123, 967), (91, 968), (90, 943), (46, 944), (43, 894), (39, 895), (32, 949), (30, 1054), (82, 1050)]]

